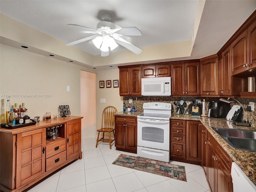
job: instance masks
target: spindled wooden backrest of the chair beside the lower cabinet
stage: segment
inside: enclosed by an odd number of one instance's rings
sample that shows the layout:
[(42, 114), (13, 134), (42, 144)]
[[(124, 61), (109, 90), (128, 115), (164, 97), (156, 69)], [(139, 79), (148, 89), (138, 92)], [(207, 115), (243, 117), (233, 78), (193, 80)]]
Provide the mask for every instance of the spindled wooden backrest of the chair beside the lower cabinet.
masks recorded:
[(101, 128), (114, 128), (115, 113), (117, 113), (117, 109), (114, 106), (104, 108), (102, 111)]

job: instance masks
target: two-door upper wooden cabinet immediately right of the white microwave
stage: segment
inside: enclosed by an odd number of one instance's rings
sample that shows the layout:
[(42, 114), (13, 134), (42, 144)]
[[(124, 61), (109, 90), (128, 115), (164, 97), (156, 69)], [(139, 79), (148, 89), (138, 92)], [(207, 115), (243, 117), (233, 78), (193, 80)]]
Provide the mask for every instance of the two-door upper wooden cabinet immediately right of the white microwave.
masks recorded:
[(172, 95), (200, 95), (199, 62), (172, 64)]

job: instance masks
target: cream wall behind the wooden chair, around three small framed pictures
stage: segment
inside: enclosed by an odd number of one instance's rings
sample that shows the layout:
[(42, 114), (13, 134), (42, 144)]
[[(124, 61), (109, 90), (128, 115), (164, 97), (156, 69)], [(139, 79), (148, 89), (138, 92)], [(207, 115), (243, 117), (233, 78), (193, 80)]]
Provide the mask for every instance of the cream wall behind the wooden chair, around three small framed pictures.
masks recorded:
[[(111, 88), (106, 88), (106, 80), (111, 80)], [(122, 111), (123, 97), (119, 96), (119, 88), (113, 88), (113, 80), (119, 80), (119, 69), (102, 70), (96, 74), (96, 127), (100, 128), (102, 110), (106, 106), (114, 106)], [(99, 81), (105, 82), (105, 88), (99, 88)], [(120, 83), (120, 82), (119, 82)], [(106, 99), (101, 103), (100, 99)]]

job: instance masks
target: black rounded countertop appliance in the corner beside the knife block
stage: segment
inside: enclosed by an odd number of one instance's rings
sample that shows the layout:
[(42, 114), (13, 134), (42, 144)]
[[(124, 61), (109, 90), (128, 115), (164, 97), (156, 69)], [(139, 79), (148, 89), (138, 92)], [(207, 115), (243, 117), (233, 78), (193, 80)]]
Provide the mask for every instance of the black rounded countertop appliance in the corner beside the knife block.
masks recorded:
[(208, 107), (208, 117), (226, 118), (230, 110), (230, 104), (223, 101), (212, 101)]

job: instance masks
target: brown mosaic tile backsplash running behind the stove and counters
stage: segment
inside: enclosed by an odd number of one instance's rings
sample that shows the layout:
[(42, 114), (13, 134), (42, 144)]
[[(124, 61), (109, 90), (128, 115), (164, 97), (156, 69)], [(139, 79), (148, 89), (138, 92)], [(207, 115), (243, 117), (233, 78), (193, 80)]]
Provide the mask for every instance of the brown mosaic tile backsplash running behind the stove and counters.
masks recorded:
[[(224, 97), (223, 97), (224, 98)], [(132, 103), (129, 103), (129, 99), (132, 99)], [(209, 102), (218, 101), (220, 98), (216, 97), (165, 97), (165, 96), (141, 96), (141, 97), (124, 97), (124, 104), (126, 106), (135, 106), (138, 112), (143, 112), (143, 103), (146, 102), (167, 102), (172, 104), (172, 113), (176, 112), (176, 106), (174, 102), (184, 100), (184, 102), (192, 102), (196, 99), (200, 99), (201, 102), (205, 99), (205, 114), (208, 114)], [(227, 99), (227, 98), (225, 98)], [(247, 106), (249, 102), (254, 102), (256, 104), (256, 98), (235, 98), (238, 100), (245, 109), (245, 120), (251, 122), (252, 127), (256, 127), (256, 109), (254, 111), (247, 111)], [(232, 99), (231, 99), (232, 100)], [(239, 105), (236, 101), (231, 103), (232, 105)]]

